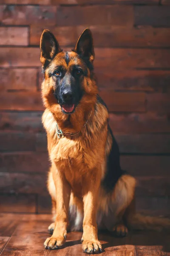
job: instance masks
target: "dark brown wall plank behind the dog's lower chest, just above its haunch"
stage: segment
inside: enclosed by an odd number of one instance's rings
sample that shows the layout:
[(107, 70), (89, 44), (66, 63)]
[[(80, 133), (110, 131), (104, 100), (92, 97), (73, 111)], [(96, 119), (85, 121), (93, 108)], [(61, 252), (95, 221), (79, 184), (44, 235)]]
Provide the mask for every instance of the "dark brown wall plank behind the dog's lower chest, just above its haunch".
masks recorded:
[[(122, 169), (133, 176), (169, 175), (169, 156), (121, 155), (120, 160)], [(47, 152), (0, 153), (0, 172), (46, 174), (50, 164)]]

